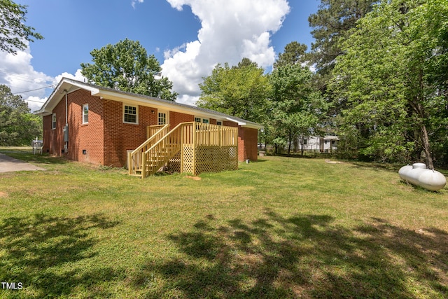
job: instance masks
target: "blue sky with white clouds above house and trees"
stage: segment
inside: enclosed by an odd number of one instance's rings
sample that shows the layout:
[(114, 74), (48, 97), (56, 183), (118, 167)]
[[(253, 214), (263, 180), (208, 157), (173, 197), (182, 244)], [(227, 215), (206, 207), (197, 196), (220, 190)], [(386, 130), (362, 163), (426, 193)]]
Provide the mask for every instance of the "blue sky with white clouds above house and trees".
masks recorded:
[(0, 84), (36, 110), (62, 76), (82, 80), (90, 51), (137, 40), (162, 65), (179, 102), (194, 104), (197, 86), (217, 63), (242, 57), (269, 70), (291, 41), (313, 41), (308, 16), (318, 0), (16, 0), (44, 39), (12, 56), (0, 53)]

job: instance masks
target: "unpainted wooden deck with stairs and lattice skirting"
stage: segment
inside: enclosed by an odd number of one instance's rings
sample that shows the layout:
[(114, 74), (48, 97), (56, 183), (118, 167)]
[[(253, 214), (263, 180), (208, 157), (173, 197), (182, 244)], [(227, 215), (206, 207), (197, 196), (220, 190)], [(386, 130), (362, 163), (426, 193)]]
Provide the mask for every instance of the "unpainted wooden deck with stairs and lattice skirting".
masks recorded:
[(206, 123), (148, 127), (151, 135), (128, 157), (129, 174), (144, 178), (164, 165), (200, 174), (238, 169), (238, 128)]

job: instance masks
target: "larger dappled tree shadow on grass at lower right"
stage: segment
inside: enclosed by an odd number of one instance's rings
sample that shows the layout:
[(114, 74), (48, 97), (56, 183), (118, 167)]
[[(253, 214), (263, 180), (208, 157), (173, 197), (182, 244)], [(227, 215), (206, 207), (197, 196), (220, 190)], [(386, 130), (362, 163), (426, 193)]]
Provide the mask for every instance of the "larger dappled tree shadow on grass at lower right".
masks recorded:
[(447, 232), (333, 221), (267, 211), (218, 225), (209, 215), (168, 236), (183, 258), (149, 261), (134, 286), (161, 279), (147, 298), (447, 298)]

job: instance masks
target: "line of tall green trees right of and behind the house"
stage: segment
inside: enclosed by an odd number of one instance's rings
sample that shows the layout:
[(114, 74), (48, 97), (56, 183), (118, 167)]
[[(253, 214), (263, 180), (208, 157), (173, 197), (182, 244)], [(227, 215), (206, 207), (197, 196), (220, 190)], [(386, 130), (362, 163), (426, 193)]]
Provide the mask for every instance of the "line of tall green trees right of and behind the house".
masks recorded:
[(322, 0), (309, 24), (309, 53), (288, 44), (272, 74), (218, 65), (199, 105), (264, 124), (288, 151), (337, 134), (344, 158), (448, 164), (448, 0)]

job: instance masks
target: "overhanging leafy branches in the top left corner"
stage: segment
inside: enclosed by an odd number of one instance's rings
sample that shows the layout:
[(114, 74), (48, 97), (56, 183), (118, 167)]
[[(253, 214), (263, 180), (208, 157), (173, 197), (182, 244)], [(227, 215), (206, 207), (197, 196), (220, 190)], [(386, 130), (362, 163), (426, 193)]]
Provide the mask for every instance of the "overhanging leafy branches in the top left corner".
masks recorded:
[(17, 50), (27, 48), (25, 41), (43, 39), (33, 27), (25, 25), (26, 14), (27, 6), (10, 0), (0, 1), (0, 50), (16, 54)]

